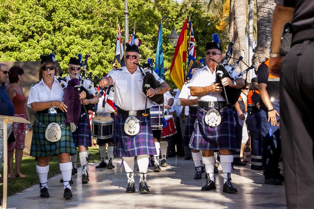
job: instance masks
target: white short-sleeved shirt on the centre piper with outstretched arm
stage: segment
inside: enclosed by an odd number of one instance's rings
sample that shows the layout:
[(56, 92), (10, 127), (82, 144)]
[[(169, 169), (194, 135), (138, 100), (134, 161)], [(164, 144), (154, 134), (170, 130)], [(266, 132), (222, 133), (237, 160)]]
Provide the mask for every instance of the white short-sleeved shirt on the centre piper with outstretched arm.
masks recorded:
[[(136, 111), (145, 109), (146, 95), (144, 94), (143, 87), (143, 76), (139, 68), (131, 74), (127, 67), (124, 66), (122, 70), (110, 71), (107, 77), (111, 77), (113, 80), (114, 100), (117, 107), (127, 111)], [(154, 76), (159, 79), (155, 72)], [(165, 82), (161, 80), (160, 83)], [(153, 106), (153, 102), (147, 100), (147, 108)]]

